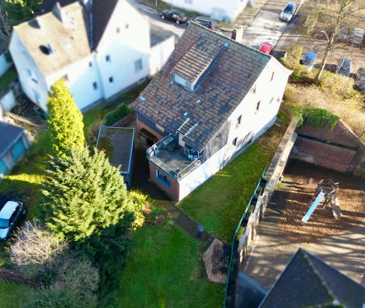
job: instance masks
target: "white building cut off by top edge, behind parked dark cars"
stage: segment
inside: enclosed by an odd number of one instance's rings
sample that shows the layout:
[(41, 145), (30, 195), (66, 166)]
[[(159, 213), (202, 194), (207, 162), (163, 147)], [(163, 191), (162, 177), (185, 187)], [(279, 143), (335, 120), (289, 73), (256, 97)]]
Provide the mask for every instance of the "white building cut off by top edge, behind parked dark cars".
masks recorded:
[(256, 0), (165, 0), (172, 7), (196, 11), (217, 21), (233, 22), (247, 5)]

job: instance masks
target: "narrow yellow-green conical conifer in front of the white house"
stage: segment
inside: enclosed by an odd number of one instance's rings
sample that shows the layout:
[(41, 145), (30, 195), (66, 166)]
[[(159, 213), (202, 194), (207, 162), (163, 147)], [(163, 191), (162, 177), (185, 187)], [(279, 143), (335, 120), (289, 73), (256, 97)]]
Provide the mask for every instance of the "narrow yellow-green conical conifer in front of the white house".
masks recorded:
[(56, 81), (51, 90), (48, 130), (55, 152), (65, 157), (71, 147), (85, 144), (83, 116), (63, 79)]

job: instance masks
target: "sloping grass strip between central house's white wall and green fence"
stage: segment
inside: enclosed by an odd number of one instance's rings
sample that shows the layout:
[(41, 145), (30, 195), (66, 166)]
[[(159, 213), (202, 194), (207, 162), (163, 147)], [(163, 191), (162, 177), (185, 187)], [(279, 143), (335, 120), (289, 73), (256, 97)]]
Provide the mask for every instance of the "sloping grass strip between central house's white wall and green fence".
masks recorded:
[(230, 243), (243, 211), (275, 153), (254, 143), (178, 205), (207, 230)]

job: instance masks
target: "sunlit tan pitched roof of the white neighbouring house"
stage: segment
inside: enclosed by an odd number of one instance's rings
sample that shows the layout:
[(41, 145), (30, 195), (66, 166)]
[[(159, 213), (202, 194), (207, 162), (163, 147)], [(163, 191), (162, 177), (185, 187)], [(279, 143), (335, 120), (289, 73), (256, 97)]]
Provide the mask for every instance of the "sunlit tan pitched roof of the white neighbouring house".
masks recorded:
[[(14, 27), (45, 75), (84, 59), (91, 52), (88, 14), (83, 7), (75, 2), (61, 8), (61, 12), (62, 21), (50, 12)], [(52, 52), (42, 51), (49, 46)]]

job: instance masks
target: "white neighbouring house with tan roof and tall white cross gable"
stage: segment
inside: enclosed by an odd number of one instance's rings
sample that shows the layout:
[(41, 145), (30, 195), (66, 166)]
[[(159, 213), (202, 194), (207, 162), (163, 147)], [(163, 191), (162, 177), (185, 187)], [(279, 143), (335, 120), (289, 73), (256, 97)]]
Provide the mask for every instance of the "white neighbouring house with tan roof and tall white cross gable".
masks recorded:
[(174, 50), (174, 35), (150, 27), (126, 0), (64, 3), (45, 0), (9, 45), (23, 91), (44, 111), (60, 78), (85, 111), (155, 74)]

